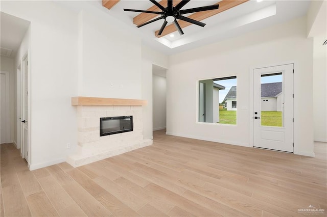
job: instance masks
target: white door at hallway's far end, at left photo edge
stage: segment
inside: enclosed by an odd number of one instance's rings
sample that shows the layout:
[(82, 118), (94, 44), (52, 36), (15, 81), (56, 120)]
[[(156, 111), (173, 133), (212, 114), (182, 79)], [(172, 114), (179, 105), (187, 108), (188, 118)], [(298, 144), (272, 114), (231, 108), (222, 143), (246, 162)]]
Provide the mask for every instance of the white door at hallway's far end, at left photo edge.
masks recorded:
[(0, 76), (0, 143), (9, 142), (9, 73), (1, 71)]

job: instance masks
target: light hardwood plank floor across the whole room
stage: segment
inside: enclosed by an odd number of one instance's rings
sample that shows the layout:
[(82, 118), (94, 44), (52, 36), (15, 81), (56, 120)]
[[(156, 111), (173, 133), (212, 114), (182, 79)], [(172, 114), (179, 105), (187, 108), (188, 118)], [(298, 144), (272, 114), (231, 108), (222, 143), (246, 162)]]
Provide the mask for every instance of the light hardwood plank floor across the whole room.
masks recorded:
[[(1, 145), (1, 216), (326, 215), (326, 144), (316, 157), (154, 132), (142, 149), (79, 168), (29, 171), (12, 144)], [(317, 214), (317, 213), (315, 213)]]

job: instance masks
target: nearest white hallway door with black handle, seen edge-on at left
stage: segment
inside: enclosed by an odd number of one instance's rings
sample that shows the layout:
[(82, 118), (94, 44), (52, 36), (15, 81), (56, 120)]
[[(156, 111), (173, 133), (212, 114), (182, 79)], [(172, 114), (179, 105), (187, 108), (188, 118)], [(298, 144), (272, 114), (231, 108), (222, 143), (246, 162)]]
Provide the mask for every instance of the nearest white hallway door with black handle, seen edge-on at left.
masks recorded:
[(28, 71), (28, 58), (23, 61), (22, 73), (22, 153), (23, 157), (28, 161), (29, 150), (29, 71)]

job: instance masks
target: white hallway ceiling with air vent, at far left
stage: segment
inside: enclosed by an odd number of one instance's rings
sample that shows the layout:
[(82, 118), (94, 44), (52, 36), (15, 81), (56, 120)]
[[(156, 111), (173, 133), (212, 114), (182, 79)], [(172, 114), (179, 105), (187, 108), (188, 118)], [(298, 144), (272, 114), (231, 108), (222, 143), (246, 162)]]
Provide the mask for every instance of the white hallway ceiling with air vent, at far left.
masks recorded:
[[(15, 57), (29, 25), (30, 22), (27, 20), (0, 12), (0, 45), (2, 56), (9, 58)], [(12, 51), (10, 52), (10, 50)]]

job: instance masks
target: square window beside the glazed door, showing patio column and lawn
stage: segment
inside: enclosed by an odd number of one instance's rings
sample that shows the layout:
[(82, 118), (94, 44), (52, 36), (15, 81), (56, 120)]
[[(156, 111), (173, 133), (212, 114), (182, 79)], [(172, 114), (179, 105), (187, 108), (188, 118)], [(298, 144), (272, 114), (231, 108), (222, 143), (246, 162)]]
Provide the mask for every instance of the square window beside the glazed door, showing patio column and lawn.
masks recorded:
[(236, 76), (199, 80), (198, 122), (236, 124)]

